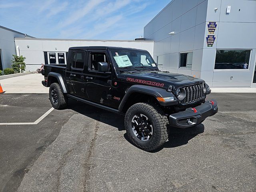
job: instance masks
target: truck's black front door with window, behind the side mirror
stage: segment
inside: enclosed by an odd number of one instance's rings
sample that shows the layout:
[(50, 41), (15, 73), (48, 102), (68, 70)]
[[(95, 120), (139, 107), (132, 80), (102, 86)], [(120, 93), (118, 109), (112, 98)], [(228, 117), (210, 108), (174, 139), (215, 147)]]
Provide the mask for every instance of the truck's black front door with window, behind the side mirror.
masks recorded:
[(90, 51), (88, 53), (88, 72), (85, 74), (86, 92), (89, 100), (104, 105), (111, 105), (112, 74), (111, 72), (99, 72), (98, 62), (109, 63), (106, 52)]

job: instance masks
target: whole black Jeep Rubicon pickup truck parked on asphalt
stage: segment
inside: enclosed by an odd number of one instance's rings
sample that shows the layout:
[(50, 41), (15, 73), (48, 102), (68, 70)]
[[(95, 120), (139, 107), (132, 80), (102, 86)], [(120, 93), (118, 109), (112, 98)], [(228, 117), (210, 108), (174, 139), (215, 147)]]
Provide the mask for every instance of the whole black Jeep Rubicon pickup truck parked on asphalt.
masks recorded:
[(54, 108), (72, 98), (124, 114), (128, 137), (146, 151), (162, 146), (169, 128), (196, 126), (218, 112), (216, 100), (205, 100), (211, 90), (204, 80), (160, 71), (146, 50), (72, 47), (67, 65), (47, 64), (42, 74)]

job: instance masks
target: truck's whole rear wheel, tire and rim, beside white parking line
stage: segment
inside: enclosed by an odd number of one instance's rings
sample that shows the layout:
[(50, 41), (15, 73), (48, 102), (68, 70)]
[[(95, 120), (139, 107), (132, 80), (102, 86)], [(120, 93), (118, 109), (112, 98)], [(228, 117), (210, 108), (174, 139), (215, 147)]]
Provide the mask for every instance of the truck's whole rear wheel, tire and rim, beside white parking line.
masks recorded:
[(51, 104), (55, 109), (66, 108), (68, 104), (68, 97), (63, 94), (58, 83), (53, 83), (50, 85), (49, 97)]

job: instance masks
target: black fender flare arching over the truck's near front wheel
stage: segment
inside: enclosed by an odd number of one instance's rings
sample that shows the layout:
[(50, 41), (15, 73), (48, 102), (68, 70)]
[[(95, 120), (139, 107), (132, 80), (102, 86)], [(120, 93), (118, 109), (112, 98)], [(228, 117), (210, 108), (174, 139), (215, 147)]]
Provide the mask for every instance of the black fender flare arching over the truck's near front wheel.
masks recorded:
[[(154, 98), (157, 98), (157, 97), (174, 97), (176, 99), (174, 94), (172, 94), (171, 92), (167, 92), (165, 89), (162, 89), (162, 88), (146, 86), (146, 85), (133, 85), (128, 89), (128, 91), (124, 95), (124, 98), (122, 99), (122, 101), (121, 101), (121, 103), (118, 107), (119, 112), (122, 112), (126, 101), (130, 97), (130, 95), (134, 92), (147, 94), (147, 95), (153, 96)], [(162, 106), (169, 106), (169, 105), (178, 104), (178, 101), (175, 100), (175, 101), (172, 101), (172, 102), (159, 102), (159, 104), (162, 105)]]

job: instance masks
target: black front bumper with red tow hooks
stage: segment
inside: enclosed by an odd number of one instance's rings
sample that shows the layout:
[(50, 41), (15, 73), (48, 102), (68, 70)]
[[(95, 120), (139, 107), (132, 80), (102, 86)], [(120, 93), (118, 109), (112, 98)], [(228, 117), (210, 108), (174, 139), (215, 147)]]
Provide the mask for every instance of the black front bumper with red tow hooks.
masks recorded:
[(206, 101), (200, 106), (187, 108), (185, 111), (171, 114), (169, 116), (170, 126), (178, 128), (192, 127), (200, 124), (208, 116), (218, 112), (216, 100)]

